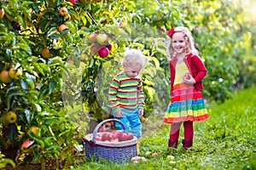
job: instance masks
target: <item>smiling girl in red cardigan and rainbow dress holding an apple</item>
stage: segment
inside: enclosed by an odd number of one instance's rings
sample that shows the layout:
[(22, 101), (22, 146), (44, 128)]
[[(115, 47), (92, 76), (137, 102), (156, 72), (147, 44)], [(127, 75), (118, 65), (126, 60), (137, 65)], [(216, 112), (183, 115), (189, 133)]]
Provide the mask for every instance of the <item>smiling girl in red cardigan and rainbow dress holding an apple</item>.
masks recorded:
[(184, 127), (183, 148), (188, 150), (194, 138), (193, 122), (209, 116), (201, 94), (202, 79), (207, 69), (197, 55), (194, 40), (187, 27), (179, 26), (168, 31), (166, 53), (170, 59), (171, 104), (163, 122), (172, 123), (168, 150), (177, 148), (181, 124)]

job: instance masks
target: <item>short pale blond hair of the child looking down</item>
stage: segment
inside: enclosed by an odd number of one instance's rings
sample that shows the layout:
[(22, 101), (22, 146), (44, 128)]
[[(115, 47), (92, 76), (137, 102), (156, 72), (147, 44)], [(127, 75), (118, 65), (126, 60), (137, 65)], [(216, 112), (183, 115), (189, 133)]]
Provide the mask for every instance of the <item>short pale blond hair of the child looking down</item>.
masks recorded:
[(124, 57), (121, 60), (121, 64), (138, 64), (144, 67), (147, 64), (147, 59), (143, 52), (139, 49), (131, 48), (125, 49)]

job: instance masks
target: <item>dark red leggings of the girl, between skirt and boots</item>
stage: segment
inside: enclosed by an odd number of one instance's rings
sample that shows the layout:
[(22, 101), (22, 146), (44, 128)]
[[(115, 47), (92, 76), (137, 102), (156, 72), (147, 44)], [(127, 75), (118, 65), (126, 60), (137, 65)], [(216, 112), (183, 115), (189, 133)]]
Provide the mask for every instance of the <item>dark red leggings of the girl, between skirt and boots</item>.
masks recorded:
[(178, 139), (179, 130), (182, 123), (184, 127), (184, 139), (193, 139), (194, 137), (193, 122), (173, 122), (171, 125), (169, 139), (173, 139), (173, 140)]

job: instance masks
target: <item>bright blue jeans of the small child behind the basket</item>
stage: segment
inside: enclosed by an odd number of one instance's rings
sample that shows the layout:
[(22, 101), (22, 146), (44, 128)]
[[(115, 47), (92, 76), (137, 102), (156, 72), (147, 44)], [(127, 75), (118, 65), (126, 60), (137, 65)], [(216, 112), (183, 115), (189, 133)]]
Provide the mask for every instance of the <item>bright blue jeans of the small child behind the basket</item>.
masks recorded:
[[(123, 113), (123, 117), (118, 118), (114, 116), (114, 113), (113, 117), (125, 125), (127, 132), (132, 133), (137, 138), (140, 138), (142, 136), (143, 124), (138, 116), (138, 109), (131, 111), (121, 108), (121, 111)], [(118, 122), (115, 123), (115, 127), (118, 127), (120, 130), (124, 130)]]

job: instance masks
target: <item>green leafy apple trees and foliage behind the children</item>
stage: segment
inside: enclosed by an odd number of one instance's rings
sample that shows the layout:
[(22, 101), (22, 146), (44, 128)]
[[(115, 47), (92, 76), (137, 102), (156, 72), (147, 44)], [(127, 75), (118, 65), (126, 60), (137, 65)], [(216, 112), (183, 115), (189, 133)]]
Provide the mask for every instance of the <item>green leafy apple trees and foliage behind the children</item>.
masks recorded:
[[(163, 97), (169, 88), (165, 29), (188, 26), (192, 31), (208, 70), (203, 90), (208, 101), (224, 102), (236, 89), (256, 82), (255, 18), (240, 0), (102, 0), (74, 5), (66, 0), (11, 0), (1, 1), (0, 6), (5, 13), (0, 20), (0, 71), (12, 65), (23, 69), (19, 80), (0, 82), (1, 116), (7, 111), (18, 115), (17, 122), (2, 127), (0, 137), (2, 153), (14, 150), (14, 156), (4, 154), (15, 162), (44, 165), (59, 156), (57, 163), (73, 161), (73, 150), (81, 150), (81, 136), (74, 138), (74, 133), (88, 127), (90, 119), (108, 115), (98, 102), (106, 99), (96, 95), (98, 75), (102, 68), (108, 74), (109, 61), (119, 63), (125, 47), (142, 49), (150, 60), (143, 72), (145, 116), (157, 120), (159, 115), (154, 113), (168, 103)], [(67, 17), (58, 12), (63, 6), (68, 9)], [(61, 24), (68, 29), (58, 31)], [(87, 54), (90, 31), (104, 31), (111, 37), (113, 49), (108, 58)], [(49, 59), (41, 54), (44, 48), (50, 50)], [(67, 87), (68, 81), (72, 88)], [(106, 79), (101, 81), (108, 84)], [(38, 136), (26, 133), (32, 126), (39, 127)], [(26, 153), (20, 150), (25, 140), (35, 141)]]

